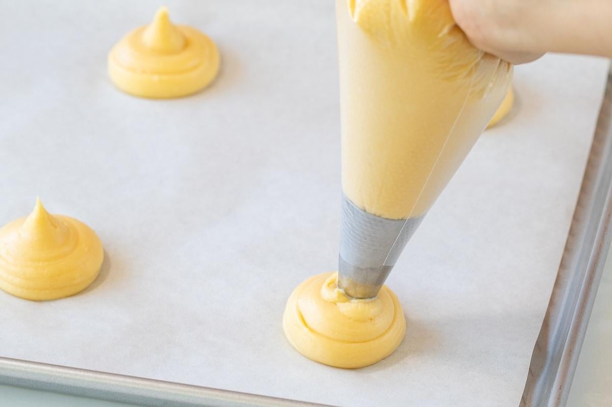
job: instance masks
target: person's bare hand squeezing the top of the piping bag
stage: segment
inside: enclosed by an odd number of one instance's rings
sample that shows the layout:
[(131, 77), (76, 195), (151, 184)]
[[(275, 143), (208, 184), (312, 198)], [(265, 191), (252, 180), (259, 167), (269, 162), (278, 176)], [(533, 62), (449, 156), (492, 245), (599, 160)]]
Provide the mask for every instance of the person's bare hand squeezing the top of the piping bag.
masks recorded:
[(449, 0), (480, 49), (515, 64), (548, 51), (612, 57), (610, 0)]

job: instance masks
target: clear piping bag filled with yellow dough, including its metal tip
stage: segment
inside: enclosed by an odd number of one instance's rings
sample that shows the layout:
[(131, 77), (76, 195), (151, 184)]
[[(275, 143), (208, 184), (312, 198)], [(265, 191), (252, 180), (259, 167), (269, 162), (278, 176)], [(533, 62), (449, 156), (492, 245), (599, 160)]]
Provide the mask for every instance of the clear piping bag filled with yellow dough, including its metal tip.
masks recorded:
[(336, 14), (338, 287), (372, 298), (507, 94), (512, 65), (472, 46), (447, 0), (336, 0)]

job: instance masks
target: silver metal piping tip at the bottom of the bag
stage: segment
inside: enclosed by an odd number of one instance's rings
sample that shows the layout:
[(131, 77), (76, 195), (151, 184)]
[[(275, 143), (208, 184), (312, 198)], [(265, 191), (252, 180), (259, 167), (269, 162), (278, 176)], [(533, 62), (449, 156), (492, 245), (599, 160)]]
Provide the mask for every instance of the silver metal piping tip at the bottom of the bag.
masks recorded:
[(342, 199), (338, 286), (353, 298), (378, 295), (423, 216), (386, 219)]

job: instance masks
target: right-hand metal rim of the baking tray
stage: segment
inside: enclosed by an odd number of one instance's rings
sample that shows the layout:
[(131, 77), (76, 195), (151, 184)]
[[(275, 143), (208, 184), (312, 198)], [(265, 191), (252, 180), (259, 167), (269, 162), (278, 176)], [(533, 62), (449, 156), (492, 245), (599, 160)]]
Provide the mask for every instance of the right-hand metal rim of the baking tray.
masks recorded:
[(521, 407), (564, 406), (612, 237), (612, 70)]

